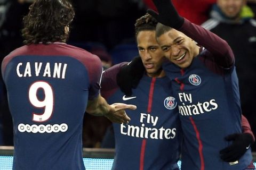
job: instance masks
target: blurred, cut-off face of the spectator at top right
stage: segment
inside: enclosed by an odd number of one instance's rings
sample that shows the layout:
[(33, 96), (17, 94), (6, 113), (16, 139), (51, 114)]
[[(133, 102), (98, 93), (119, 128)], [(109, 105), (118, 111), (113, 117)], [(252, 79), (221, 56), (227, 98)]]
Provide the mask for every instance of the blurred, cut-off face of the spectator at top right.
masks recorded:
[(217, 4), (226, 16), (236, 18), (245, 5), (245, 0), (218, 0)]

